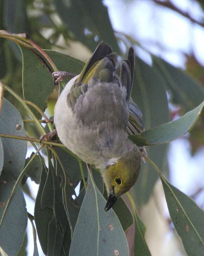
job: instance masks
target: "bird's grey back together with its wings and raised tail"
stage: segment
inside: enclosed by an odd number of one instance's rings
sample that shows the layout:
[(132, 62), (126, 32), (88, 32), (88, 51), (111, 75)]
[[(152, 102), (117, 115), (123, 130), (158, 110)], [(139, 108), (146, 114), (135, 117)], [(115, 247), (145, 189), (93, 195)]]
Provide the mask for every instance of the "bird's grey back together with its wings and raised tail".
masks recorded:
[(73, 84), (67, 103), (83, 125), (95, 126), (99, 133), (109, 125), (126, 130), (128, 135), (142, 132), (142, 113), (130, 98), (135, 69), (133, 47), (120, 63), (120, 77), (116, 64), (116, 53), (101, 42)]

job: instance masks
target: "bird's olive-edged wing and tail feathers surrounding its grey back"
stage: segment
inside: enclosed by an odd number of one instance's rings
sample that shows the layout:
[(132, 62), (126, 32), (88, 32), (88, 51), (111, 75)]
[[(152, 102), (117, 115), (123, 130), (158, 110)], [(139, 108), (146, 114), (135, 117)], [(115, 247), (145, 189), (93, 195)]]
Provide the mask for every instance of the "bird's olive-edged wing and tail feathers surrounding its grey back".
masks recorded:
[[(67, 95), (67, 102), (69, 106), (74, 109), (79, 96), (87, 92), (88, 83), (92, 77), (95, 77), (100, 82), (116, 83), (118, 84), (118, 86), (125, 87), (127, 91), (126, 100), (129, 103), (129, 116), (126, 126), (126, 132), (128, 133), (128, 135), (140, 133), (144, 131), (144, 125), (142, 123), (142, 113), (138, 106), (130, 98), (135, 69), (134, 48), (129, 48), (127, 59), (122, 60), (120, 63), (120, 78), (116, 74), (116, 64), (116, 53), (112, 52), (111, 46), (109, 46), (107, 43), (101, 42), (94, 51), (91, 58), (85, 64), (76, 82), (72, 85), (71, 90)], [(108, 105), (108, 103), (106, 105)], [(115, 114), (115, 117), (120, 116), (117, 115), (117, 113)], [(107, 115), (103, 116), (103, 118), (107, 118)], [(124, 122), (125, 119), (126, 118), (124, 118)]]

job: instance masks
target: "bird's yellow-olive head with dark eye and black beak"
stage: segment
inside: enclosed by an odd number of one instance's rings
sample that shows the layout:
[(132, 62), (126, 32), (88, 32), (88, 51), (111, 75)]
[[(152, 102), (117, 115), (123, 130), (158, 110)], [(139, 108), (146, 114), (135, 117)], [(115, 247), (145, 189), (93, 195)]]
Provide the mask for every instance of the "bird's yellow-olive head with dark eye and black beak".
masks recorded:
[(126, 193), (135, 184), (141, 167), (141, 153), (137, 146), (126, 151), (120, 158), (109, 160), (106, 172), (102, 177), (108, 193), (105, 212), (108, 211), (117, 198)]

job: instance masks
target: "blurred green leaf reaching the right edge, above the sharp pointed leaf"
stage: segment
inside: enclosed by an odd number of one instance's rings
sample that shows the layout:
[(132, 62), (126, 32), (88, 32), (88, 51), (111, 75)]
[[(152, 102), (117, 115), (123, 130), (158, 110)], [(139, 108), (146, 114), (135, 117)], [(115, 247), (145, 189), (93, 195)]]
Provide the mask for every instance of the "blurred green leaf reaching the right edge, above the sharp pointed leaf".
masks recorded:
[(204, 89), (198, 81), (162, 59), (153, 57), (153, 61), (167, 82), (165, 86), (171, 94), (173, 103), (189, 111), (203, 101)]

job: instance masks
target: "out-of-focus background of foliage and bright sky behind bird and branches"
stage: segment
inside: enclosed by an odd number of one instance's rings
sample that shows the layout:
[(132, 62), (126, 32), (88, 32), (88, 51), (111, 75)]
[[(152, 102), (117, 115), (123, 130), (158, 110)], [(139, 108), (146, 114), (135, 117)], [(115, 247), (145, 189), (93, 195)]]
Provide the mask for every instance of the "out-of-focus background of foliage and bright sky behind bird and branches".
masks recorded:
[[(133, 99), (142, 109), (146, 128), (174, 120), (204, 100), (202, 0), (1, 0), (0, 29), (27, 33), (41, 48), (83, 61), (102, 40), (121, 57), (126, 55), (130, 45), (134, 46), (137, 56), (142, 59), (136, 61), (135, 84), (139, 86), (143, 81), (146, 95), (141, 98), (144, 95), (142, 89), (135, 87)], [(154, 74), (149, 66), (156, 70)], [(2, 38), (0, 78), (22, 95), (21, 52), (16, 44)], [(11, 95), (5, 93), (5, 97), (21, 113), (24, 111)], [(48, 98), (50, 116), (56, 99), (56, 92)], [(38, 136), (34, 127), (26, 125), (25, 128), (28, 135)], [(155, 146), (148, 152), (171, 183), (192, 196), (202, 208), (203, 145), (204, 113), (190, 134), (171, 142), (170, 147)], [(147, 177), (144, 173), (148, 173)], [(157, 176), (150, 170), (143, 170), (138, 182), (135, 195), (140, 216), (147, 227), (146, 239), (152, 255), (185, 255), (164, 204), (163, 189)], [(36, 194), (32, 189), (24, 188), (29, 196)], [(19, 255), (31, 255), (29, 250), (32, 252), (32, 248), (25, 249), (26, 241), (27, 236)]]

